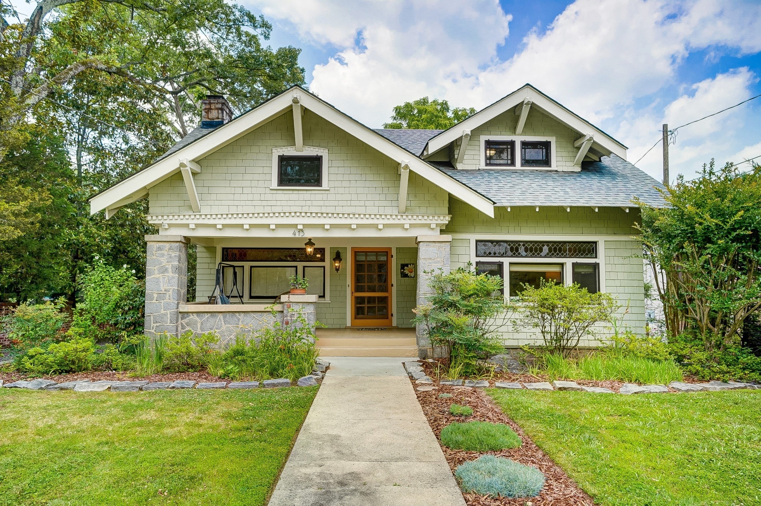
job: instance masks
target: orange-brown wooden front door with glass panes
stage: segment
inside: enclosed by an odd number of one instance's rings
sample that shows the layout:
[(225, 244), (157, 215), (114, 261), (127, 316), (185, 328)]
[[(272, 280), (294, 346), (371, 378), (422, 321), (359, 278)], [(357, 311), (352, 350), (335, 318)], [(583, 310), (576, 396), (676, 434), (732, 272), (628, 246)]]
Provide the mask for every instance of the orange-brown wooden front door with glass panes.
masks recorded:
[(352, 326), (391, 326), (391, 249), (352, 248)]

